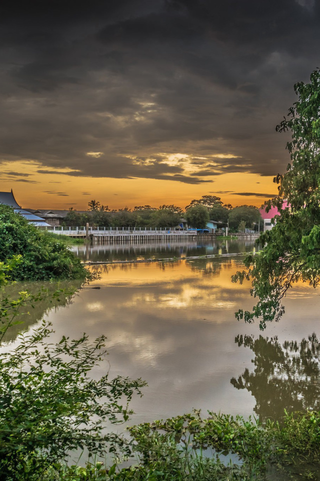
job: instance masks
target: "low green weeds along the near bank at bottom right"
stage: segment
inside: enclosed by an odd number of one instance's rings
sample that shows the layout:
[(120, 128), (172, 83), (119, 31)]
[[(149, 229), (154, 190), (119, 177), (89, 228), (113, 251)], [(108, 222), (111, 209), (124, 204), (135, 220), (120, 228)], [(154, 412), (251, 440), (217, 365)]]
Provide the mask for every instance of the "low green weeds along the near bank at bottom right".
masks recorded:
[[(318, 479), (320, 415), (285, 413), (283, 424), (198, 411), (129, 428), (135, 464), (59, 466), (57, 481), (258, 481)], [(49, 472), (48, 472), (49, 475)], [(267, 476), (267, 477), (266, 477)]]

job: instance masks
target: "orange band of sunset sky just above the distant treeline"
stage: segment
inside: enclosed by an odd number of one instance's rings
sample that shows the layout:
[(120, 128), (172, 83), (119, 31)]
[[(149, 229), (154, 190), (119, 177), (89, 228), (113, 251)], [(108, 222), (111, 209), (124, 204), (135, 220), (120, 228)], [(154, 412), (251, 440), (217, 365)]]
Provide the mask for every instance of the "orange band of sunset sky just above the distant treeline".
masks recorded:
[[(27, 175), (28, 182), (21, 182), (13, 176), (1, 182), (1, 190), (13, 189), (17, 202), (27, 208), (56, 208), (67, 209), (73, 207), (85, 210), (88, 201), (99, 200), (110, 209), (128, 206), (149, 204), (159, 206), (169, 203), (180, 206), (182, 209), (193, 198), (205, 194), (221, 197), (224, 203), (232, 205), (248, 204), (259, 207), (272, 195), (276, 195), (277, 188), (271, 176), (259, 177), (256, 174), (238, 173), (223, 174), (218, 178), (210, 178), (204, 185), (188, 185), (172, 180), (158, 179), (112, 179), (105, 177), (73, 177), (67, 174), (67, 169), (60, 173), (38, 173), (37, 162), (20, 161), (3, 163), (3, 173), (9, 168), (14, 168), (21, 174)], [(239, 185), (252, 186), (260, 196), (238, 195)], [(221, 192), (225, 190), (226, 192)], [(269, 193), (269, 195), (263, 195)]]

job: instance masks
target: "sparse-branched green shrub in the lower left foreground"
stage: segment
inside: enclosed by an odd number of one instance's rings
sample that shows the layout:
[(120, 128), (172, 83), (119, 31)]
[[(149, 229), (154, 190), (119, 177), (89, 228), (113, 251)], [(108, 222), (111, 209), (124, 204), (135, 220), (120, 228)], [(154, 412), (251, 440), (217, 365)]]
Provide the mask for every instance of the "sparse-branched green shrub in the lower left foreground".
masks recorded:
[[(0, 286), (9, 284), (12, 269), (21, 264), (20, 256), (0, 263)], [(51, 296), (73, 292), (58, 290)], [(47, 295), (43, 290), (36, 295), (23, 291), (14, 299), (2, 295), (0, 346), (8, 329), (21, 324), (23, 307)], [(91, 455), (130, 452), (121, 436), (105, 432), (105, 424), (127, 420), (128, 402), (145, 383), (120, 376), (110, 380), (108, 365), (105, 375), (91, 379), (93, 366), (107, 364), (105, 338), (89, 343), (85, 335), (76, 340), (63, 336), (54, 344), (51, 333), (50, 324), (42, 321), (18, 337), (16, 348), (0, 353), (1, 481), (45, 479), (48, 471), (59, 470), (72, 449), (86, 448)]]

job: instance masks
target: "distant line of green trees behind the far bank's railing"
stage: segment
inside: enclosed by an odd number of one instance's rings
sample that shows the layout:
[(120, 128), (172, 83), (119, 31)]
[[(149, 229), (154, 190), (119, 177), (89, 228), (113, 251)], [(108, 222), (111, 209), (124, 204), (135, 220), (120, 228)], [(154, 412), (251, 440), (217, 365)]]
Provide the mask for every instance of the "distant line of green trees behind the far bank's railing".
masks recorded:
[(222, 222), (228, 225), (230, 232), (249, 228), (258, 230), (262, 227), (262, 219), (257, 207), (240, 205), (232, 207), (223, 204), (220, 197), (203, 195), (193, 199), (183, 211), (173, 204), (163, 204), (159, 207), (136, 205), (133, 210), (128, 207), (110, 210), (107, 205), (95, 199), (88, 202), (86, 212), (78, 212), (70, 208), (64, 218), (64, 225), (81, 226), (88, 222), (99, 227), (174, 227), (184, 218), (190, 227), (204, 228), (208, 220)]

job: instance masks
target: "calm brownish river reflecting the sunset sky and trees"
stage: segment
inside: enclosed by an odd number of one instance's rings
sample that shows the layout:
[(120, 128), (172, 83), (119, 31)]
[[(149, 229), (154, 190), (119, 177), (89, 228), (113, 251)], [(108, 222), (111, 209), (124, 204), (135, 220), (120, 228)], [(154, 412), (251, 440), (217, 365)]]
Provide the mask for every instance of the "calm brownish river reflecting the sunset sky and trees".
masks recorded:
[[(284, 408), (317, 407), (320, 348), (316, 338), (300, 343), (319, 332), (318, 290), (298, 284), (284, 299), (280, 322), (264, 332), (258, 323), (236, 321), (234, 312), (250, 309), (254, 300), (248, 283), (230, 281), (243, 267), (243, 258), (232, 254), (252, 249), (252, 243), (236, 241), (76, 246), (74, 252), (86, 260), (177, 260), (92, 266), (99, 280), (54, 307), (42, 303), (26, 328), (44, 313), (53, 324), (54, 340), (83, 332), (92, 340), (106, 335), (110, 376), (140, 377), (148, 384), (143, 397), (132, 400), (131, 424), (192, 408), (203, 415), (213, 410), (279, 419)], [(219, 253), (231, 255), (181, 259)], [(15, 335), (8, 334), (8, 345), (16, 342)], [(99, 377), (107, 368), (96, 367), (92, 374)]]

